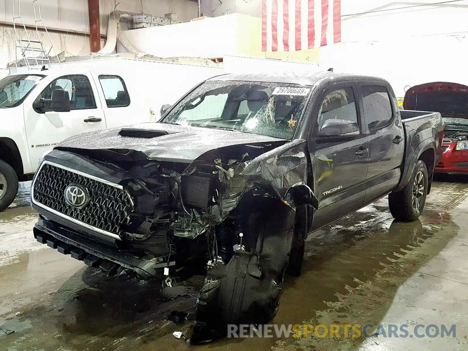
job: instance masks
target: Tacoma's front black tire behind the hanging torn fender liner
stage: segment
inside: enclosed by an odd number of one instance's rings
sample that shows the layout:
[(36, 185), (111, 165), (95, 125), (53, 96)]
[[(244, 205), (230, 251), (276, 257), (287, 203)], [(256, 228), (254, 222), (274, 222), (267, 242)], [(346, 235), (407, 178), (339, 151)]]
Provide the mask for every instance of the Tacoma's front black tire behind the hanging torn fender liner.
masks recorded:
[(302, 273), (302, 262), (304, 261), (304, 249), (309, 228), (309, 208), (300, 205), (296, 209), (294, 223), (294, 235), (292, 237), (291, 254), (286, 268), (286, 274), (292, 277), (300, 277)]

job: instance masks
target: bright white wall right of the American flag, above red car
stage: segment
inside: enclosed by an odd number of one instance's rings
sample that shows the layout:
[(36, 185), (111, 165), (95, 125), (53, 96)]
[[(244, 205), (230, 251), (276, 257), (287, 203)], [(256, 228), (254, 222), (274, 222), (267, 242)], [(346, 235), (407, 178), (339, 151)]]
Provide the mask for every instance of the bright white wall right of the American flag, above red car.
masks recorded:
[[(437, 1), (434, 1), (437, 2)], [(342, 0), (342, 15), (422, 3)], [(427, 2), (426, 2), (427, 3)], [(320, 49), (320, 65), (335, 72), (381, 76), (403, 97), (405, 86), (429, 81), (468, 84), (468, 1), (342, 18), (342, 43)], [(465, 32), (465, 33), (458, 33)], [(458, 33), (458, 34), (457, 34)]]

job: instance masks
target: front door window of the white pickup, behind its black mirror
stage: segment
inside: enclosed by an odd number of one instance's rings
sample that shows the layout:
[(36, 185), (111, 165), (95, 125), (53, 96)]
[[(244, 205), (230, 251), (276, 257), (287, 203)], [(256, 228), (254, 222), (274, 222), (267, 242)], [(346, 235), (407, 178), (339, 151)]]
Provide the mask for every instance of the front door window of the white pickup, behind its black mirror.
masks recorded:
[[(83, 74), (66, 75), (53, 80), (39, 95), (44, 99), (51, 99), (55, 89), (68, 90), (72, 110), (95, 109), (93, 89), (88, 77)], [(45, 103), (45, 111), (51, 111), (50, 102)]]

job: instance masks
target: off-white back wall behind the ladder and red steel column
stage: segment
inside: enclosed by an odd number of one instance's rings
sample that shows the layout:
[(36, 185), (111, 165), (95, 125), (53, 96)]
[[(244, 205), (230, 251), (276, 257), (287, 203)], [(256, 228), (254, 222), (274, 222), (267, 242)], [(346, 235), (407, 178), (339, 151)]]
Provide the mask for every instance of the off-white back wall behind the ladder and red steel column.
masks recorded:
[[(21, 15), (24, 23), (35, 25), (32, 0), (15, 0), (15, 15), (18, 14), (18, 3), (21, 4)], [(121, 11), (164, 16), (169, 12), (178, 15), (179, 21), (190, 21), (197, 17), (197, 3), (189, 0), (117, 0), (117, 9)], [(142, 6), (140, 5), (142, 4)], [(89, 39), (84, 33), (89, 33), (88, 1), (87, 0), (40, 0), (42, 20), (48, 29), (67, 30), (67, 34), (50, 33), (51, 42), (57, 51), (68, 51), (74, 55), (89, 53)], [(148, 7), (149, 4), (149, 7)], [(108, 16), (115, 8), (116, 0), (100, 0), (101, 33), (106, 34)], [(12, 0), (0, 0), (0, 22), (13, 23)], [(16, 20), (21, 27), (20, 20)], [(40, 27), (40, 26), (39, 26)], [(31, 40), (40, 40), (48, 51), (51, 42), (44, 32), (27, 30)], [(18, 30), (22, 39), (26, 39), (24, 30)], [(0, 68), (6, 67), (8, 62), (15, 60), (15, 33), (12, 28), (2, 27), (0, 24)], [(104, 41), (102, 40), (103, 46)], [(52, 53), (53, 54), (53, 51)]]

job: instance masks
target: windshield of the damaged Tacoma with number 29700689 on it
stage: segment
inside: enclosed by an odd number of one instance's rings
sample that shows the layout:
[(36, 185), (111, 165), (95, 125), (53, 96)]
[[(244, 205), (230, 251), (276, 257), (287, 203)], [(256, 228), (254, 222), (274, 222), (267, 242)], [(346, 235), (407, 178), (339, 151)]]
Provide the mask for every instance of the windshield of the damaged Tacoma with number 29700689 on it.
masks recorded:
[(299, 84), (204, 82), (160, 122), (291, 140), (310, 91), (310, 87)]

